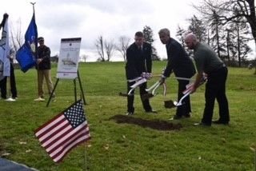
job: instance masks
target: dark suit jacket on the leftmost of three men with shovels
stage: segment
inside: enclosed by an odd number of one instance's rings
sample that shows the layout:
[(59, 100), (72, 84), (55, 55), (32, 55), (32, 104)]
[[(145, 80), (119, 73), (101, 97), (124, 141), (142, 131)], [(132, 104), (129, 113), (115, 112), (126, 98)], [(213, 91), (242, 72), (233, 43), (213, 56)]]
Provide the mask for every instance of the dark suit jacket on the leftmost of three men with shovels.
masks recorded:
[(152, 68), (152, 48), (150, 43), (143, 42), (142, 50), (138, 46), (131, 44), (126, 50), (126, 78), (138, 78), (142, 72), (151, 73)]

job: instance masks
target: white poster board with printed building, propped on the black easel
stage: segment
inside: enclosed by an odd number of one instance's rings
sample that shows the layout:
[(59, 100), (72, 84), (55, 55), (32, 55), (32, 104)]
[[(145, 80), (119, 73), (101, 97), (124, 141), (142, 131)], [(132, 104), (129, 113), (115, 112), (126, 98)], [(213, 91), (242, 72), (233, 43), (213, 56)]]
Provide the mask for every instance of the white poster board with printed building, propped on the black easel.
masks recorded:
[(57, 78), (75, 79), (78, 77), (78, 61), (81, 38), (62, 38), (58, 57)]

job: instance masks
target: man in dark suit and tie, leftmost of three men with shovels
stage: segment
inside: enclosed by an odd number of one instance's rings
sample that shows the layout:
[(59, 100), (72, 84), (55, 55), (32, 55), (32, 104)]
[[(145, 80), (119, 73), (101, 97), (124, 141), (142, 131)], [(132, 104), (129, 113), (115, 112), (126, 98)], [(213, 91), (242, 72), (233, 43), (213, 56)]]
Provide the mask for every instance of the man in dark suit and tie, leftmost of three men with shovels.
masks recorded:
[[(144, 42), (144, 35), (138, 31), (135, 34), (135, 42), (126, 50), (126, 78), (132, 80), (141, 76), (142, 72), (151, 73), (152, 67), (152, 48), (150, 43)], [(127, 92), (130, 91), (130, 85), (135, 82), (127, 82)], [(146, 82), (140, 85), (140, 96), (143, 108), (147, 113), (156, 113), (150, 106), (148, 99), (143, 99), (142, 95), (146, 92)], [(133, 95), (127, 97), (127, 115), (134, 114), (134, 91)]]

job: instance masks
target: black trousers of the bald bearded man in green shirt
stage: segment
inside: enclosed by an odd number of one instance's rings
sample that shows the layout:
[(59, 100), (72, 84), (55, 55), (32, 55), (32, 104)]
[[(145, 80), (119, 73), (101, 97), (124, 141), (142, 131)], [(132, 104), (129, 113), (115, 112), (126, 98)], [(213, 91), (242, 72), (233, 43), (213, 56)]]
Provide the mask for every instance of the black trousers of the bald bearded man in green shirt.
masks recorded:
[(219, 121), (228, 123), (230, 121), (229, 105), (226, 98), (226, 77), (227, 68), (210, 72), (206, 82), (206, 106), (202, 117), (202, 122), (211, 124), (214, 113), (215, 98), (218, 101)]

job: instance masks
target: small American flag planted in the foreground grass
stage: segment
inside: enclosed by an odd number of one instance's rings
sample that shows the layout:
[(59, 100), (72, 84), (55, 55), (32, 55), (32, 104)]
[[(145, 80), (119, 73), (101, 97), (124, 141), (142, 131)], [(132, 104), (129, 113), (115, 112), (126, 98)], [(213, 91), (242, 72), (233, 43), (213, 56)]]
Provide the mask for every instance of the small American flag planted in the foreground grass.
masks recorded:
[(55, 162), (62, 161), (76, 145), (90, 139), (89, 127), (82, 109), (82, 101), (76, 101), (35, 130), (42, 147)]

